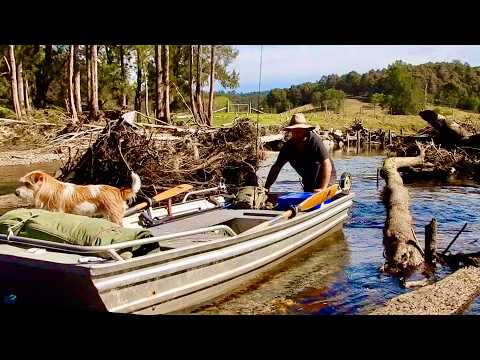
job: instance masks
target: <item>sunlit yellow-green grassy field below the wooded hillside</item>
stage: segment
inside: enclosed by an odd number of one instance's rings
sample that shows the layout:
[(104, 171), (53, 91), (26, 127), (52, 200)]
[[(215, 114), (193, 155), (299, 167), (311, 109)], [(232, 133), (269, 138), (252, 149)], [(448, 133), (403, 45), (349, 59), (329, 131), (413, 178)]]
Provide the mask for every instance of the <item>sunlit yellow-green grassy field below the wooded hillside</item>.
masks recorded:
[[(429, 109), (435, 110), (445, 116), (454, 117), (456, 120), (473, 121), (480, 125), (480, 114), (468, 111), (452, 109), (447, 107), (428, 106)], [(236, 117), (248, 116), (250, 119), (258, 121), (260, 124), (280, 124), (288, 122), (292, 112), (282, 114), (246, 114), (246, 113), (215, 113), (214, 125), (222, 126), (231, 123)], [(363, 125), (372, 130), (384, 129), (404, 133), (415, 133), (426, 127), (428, 124), (418, 115), (390, 115), (379, 106), (374, 107), (370, 103), (365, 103), (357, 99), (346, 99), (344, 109), (340, 114), (328, 111), (318, 111), (318, 109), (309, 110), (304, 113), (307, 120), (311, 123), (318, 124), (322, 129), (341, 129), (349, 128), (355, 119), (362, 119)]]

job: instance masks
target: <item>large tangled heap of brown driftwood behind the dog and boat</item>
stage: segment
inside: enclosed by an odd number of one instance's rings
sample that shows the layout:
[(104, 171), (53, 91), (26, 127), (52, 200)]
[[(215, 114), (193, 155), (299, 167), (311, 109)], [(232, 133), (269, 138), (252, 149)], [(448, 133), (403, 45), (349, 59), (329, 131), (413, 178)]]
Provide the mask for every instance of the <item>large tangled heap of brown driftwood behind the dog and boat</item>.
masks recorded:
[(181, 183), (213, 187), (221, 178), (227, 186), (254, 185), (255, 166), (263, 157), (256, 135), (256, 125), (247, 119), (229, 128), (148, 130), (120, 119), (108, 123), (84, 153), (69, 158), (60, 180), (130, 186), (133, 170), (149, 197)]

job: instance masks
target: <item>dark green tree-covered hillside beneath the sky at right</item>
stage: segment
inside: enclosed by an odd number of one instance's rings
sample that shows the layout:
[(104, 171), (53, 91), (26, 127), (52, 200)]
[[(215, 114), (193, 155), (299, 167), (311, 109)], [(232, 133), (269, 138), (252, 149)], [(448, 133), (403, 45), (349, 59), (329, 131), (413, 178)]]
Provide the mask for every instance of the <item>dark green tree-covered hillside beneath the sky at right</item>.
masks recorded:
[[(404, 69), (402, 74), (393, 74), (395, 81), (392, 80), (393, 67)], [(394, 87), (402, 82), (408, 82), (407, 88), (411, 88), (413, 95), (410, 91), (402, 95), (394, 91)], [(480, 111), (480, 67), (460, 61), (421, 65), (396, 62), (388, 68), (370, 70), (364, 74), (351, 71), (341, 76), (322, 76), (317, 82), (292, 85), (288, 89), (272, 89), (265, 95), (263, 107), (272, 112), (283, 112), (314, 102), (314, 94), (327, 89), (341, 90), (347, 96), (367, 101), (373, 94), (396, 94), (397, 97), (414, 96), (417, 104), (426, 102), (435, 106)]]

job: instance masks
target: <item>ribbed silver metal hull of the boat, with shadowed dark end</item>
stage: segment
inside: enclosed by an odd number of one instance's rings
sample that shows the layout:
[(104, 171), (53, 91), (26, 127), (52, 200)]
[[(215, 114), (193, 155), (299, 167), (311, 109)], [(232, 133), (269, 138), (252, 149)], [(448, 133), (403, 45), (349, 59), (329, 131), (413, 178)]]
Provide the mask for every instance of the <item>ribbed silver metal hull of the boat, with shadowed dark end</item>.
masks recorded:
[[(353, 194), (342, 196), (321, 209), (257, 233), (240, 233), (123, 262), (53, 263), (18, 259), (0, 251), (0, 273), (22, 274), (21, 279), (0, 277), (0, 290), (18, 294), (24, 303), (135, 314), (191, 311), (255, 280), (339, 230), (348, 219), (352, 198)], [(261, 218), (263, 213), (249, 210), (244, 214), (247, 219)], [(62, 286), (54, 285), (59, 282)], [(42, 293), (35, 296), (32, 286)], [(68, 301), (72, 298), (74, 301)]]

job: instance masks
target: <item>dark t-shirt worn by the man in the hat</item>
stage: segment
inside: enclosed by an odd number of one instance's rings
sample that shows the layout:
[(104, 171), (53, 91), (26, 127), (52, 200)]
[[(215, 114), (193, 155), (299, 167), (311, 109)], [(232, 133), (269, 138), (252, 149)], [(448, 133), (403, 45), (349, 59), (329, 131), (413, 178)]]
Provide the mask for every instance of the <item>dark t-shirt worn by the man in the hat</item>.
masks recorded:
[(292, 140), (288, 140), (280, 149), (276, 164), (282, 167), (286, 162), (289, 162), (302, 177), (304, 190), (312, 192), (320, 186), (322, 162), (330, 159), (332, 174), (330, 175), (329, 185), (334, 184), (337, 181), (335, 165), (322, 139), (310, 131), (303, 145), (303, 148), (299, 148)]

